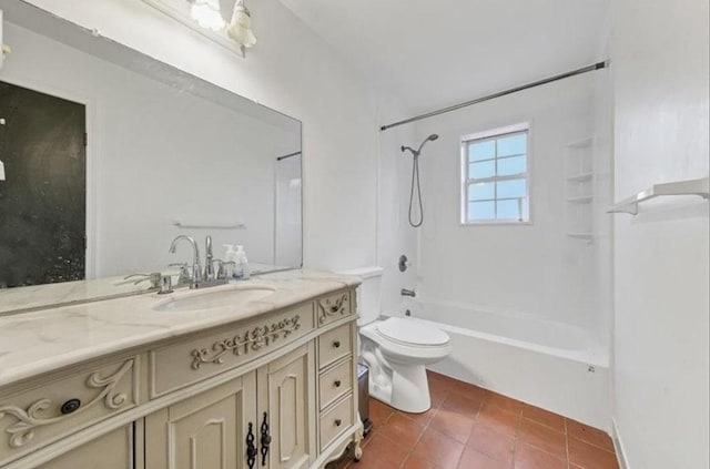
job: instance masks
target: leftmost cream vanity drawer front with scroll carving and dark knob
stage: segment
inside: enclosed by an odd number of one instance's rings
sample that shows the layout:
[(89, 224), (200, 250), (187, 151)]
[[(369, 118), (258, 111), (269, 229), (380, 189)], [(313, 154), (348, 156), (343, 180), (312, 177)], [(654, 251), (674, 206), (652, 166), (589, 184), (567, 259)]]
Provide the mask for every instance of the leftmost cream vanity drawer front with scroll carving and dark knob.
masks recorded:
[(124, 356), (0, 389), (0, 467), (138, 406), (139, 373), (140, 356)]

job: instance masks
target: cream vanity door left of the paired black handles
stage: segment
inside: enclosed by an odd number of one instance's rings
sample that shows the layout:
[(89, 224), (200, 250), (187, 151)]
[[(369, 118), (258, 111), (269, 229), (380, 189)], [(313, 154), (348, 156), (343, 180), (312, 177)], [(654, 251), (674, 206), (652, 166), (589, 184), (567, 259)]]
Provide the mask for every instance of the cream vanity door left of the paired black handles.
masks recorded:
[(256, 383), (252, 371), (145, 418), (145, 467), (150, 469), (248, 468), (252, 424), (257, 446)]

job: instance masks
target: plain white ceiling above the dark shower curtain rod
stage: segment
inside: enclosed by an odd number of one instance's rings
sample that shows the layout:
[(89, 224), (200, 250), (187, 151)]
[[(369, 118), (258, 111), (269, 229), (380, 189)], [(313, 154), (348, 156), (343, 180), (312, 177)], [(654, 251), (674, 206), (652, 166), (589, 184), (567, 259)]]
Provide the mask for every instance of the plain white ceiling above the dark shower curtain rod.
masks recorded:
[(282, 0), (412, 111), (599, 61), (609, 0)]

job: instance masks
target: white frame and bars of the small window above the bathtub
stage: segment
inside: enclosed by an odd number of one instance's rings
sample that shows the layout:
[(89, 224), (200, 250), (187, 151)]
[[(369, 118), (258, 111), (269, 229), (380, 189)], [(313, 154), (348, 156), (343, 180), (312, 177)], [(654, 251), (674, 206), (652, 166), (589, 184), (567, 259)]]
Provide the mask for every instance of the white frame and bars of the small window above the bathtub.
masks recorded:
[[(525, 172), (518, 174), (511, 174), (506, 176), (490, 176), (490, 177), (468, 177), (469, 164), (468, 164), (468, 144), (473, 141), (483, 141), (483, 140), (497, 140), (506, 134), (518, 133), (518, 132), (527, 132), (526, 139), (526, 159), (525, 159)], [(460, 176), (462, 181), (459, 184), (460, 187), (460, 216), (459, 224), (462, 226), (475, 226), (475, 225), (529, 225), (532, 223), (532, 201), (530, 200), (530, 123), (524, 122), (515, 125), (508, 125), (498, 129), (491, 129), (483, 132), (476, 132), (468, 135), (464, 135), (460, 137)], [(496, 152), (496, 159), (498, 159), (498, 154)], [(494, 161), (495, 161), (494, 160)], [(468, 220), (468, 186), (474, 183), (481, 182), (497, 182), (497, 181), (510, 181), (510, 180), (519, 180), (525, 179), (526, 184), (526, 193), (525, 197), (527, 198), (528, 204), (528, 217), (527, 220), (498, 220), (498, 218), (486, 218), (486, 220)], [(494, 197), (493, 201), (497, 201), (497, 197)], [(495, 205), (495, 204), (494, 204)]]

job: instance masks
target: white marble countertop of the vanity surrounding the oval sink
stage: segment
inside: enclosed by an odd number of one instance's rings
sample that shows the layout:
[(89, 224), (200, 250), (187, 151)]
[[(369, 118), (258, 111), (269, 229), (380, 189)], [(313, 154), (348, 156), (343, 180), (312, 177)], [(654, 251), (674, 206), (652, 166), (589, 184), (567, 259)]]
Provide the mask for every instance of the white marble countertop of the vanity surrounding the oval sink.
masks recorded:
[[(165, 302), (154, 293), (0, 316), (0, 386), (105, 354), (150, 344), (272, 312), (291, 304), (359, 284), (359, 278), (315, 271), (287, 271), (239, 282), (274, 293), (209, 312), (158, 312)], [(179, 289), (173, 297), (234, 288)]]

